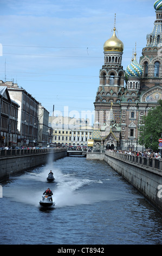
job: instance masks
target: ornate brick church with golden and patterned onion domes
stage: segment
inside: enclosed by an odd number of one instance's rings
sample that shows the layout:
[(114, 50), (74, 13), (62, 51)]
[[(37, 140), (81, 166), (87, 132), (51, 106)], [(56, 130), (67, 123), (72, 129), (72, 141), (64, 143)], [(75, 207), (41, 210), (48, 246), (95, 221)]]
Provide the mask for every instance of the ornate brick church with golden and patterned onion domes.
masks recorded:
[(122, 67), (123, 42), (113, 35), (103, 45), (104, 64), (94, 102), (94, 149), (141, 150), (141, 119), (162, 99), (162, 1), (154, 3), (153, 30), (147, 34), (139, 63), (136, 47), (126, 70)]

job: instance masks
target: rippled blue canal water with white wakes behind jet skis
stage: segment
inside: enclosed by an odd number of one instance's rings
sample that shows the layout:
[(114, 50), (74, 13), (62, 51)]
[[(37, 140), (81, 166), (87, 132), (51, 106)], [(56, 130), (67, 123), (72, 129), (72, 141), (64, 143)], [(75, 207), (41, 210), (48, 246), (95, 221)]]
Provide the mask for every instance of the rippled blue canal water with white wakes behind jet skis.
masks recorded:
[[(48, 183), (49, 170), (55, 182)], [(162, 216), (104, 161), (64, 157), (1, 183), (1, 245), (157, 245)], [(50, 187), (55, 208), (39, 205)]]

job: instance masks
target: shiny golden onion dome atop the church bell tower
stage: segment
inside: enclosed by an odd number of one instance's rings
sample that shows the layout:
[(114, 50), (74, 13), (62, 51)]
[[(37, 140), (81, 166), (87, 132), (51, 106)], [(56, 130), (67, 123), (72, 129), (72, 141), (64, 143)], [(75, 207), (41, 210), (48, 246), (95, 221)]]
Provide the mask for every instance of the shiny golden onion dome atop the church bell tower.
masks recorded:
[(108, 39), (103, 45), (103, 50), (106, 51), (118, 51), (122, 52), (124, 50), (124, 44), (120, 41), (116, 34), (116, 28), (114, 27), (114, 33), (110, 39)]

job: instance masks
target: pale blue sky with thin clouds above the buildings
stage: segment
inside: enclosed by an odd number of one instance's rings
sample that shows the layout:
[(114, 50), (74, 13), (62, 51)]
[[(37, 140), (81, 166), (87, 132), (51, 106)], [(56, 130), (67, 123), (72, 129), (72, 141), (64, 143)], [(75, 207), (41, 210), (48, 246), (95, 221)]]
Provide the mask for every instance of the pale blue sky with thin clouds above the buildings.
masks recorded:
[(103, 44), (124, 43), (122, 66), (137, 60), (155, 21), (152, 0), (0, 0), (0, 80), (13, 81), (49, 115), (94, 114)]

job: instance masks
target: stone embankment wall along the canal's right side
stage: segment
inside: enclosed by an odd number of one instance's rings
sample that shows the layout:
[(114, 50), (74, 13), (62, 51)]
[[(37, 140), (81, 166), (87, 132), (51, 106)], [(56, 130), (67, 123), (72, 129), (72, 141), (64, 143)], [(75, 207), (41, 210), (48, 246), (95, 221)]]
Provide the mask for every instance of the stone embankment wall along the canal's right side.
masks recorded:
[(150, 167), (149, 159), (135, 159), (111, 151), (105, 154), (87, 153), (87, 160), (105, 160), (116, 172), (133, 185), (155, 208), (162, 213), (162, 159), (159, 160), (158, 168), (153, 160)]

